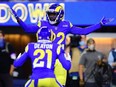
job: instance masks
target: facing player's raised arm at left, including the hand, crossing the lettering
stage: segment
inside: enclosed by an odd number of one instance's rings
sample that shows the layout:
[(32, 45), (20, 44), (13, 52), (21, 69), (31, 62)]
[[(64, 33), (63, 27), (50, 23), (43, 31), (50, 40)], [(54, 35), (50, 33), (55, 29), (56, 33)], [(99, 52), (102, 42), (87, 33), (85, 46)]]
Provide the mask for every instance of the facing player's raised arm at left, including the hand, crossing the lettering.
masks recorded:
[(39, 27), (37, 25), (27, 25), (25, 22), (23, 22), (16, 14), (16, 12), (11, 9), (12, 15), (16, 18), (18, 24), (21, 26), (21, 28), (28, 33), (36, 33)]

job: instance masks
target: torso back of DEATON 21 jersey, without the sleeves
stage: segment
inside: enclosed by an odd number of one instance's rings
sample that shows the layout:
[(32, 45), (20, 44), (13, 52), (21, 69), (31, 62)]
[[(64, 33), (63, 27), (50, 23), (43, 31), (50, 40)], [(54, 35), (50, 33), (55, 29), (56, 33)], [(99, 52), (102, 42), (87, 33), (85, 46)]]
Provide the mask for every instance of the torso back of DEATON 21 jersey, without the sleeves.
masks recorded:
[(44, 78), (54, 76), (54, 64), (57, 54), (57, 44), (51, 41), (30, 43), (28, 44), (28, 55), (32, 61), (32, 77), (31, 78)]

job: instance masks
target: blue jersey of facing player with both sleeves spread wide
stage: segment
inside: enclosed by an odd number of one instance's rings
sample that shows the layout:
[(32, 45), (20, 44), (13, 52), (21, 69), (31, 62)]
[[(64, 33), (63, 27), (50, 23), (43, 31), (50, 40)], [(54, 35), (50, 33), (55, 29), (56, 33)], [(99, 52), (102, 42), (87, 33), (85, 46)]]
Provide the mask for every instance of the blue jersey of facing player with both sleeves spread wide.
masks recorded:
[(53, 41), (58, 44), (65, 44), (67, 34), (87, 35), (101, 28), (100, 23), (81, 28), (73, 26), (69, 21), (61, 21), (57, 26), (51, 25), (48, 21), (39, 21), (38, 25), (26, 25), (22, 20), (20, 20), (19, 24), (25, 32), (30, 33), (36, 33), (40, 27), (47, 26), (54, 34)]

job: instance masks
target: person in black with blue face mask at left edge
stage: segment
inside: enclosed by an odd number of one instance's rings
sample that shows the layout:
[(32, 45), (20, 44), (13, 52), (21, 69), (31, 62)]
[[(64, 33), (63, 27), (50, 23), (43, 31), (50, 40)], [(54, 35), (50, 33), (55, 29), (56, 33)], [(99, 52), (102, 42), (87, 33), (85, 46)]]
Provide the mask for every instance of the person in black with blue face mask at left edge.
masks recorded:
[(5, 41), (4, 33), (0, 30), (0, 87), (13, 87), (13, 61), (16, 54), (12, 45)]

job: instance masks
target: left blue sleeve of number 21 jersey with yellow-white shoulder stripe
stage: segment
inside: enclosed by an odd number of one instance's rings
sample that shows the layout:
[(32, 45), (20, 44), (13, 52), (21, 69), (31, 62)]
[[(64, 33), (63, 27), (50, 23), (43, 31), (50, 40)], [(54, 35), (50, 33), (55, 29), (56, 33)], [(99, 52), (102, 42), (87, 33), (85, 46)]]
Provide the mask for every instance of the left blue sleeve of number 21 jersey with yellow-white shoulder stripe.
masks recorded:
[(19, 67), (24, 64), (24, 62), (28, 58), (28, 51), (29, 51), (29, 44), (25, 47), (25, 52), (22, 55), (18, 56), (17, 59), (14, 61), (15, 67)]

